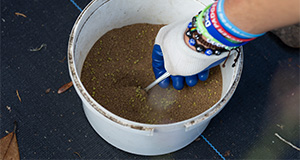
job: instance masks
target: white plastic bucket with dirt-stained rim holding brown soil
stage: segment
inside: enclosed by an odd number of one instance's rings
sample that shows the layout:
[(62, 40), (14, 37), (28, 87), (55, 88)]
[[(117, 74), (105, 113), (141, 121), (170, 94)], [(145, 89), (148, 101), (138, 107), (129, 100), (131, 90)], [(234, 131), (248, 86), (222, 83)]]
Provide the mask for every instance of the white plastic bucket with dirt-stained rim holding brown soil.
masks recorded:
[(229, 57), (225, 68), (221, 67), (222, 98), (214, 106), (198, 116), (172, 124), (150, 125), (119, 117), (98, 104), (80, 81), (89, 50), (109, 30), (135, 23), (169, 24), (189, 19), (210, 3), (205, 0), (94, 0), (80, 14), (69, 39), (69, 71), (87, 119), (108, 143), (139, 155), (176, 151), (194, 141), (231, 98), (241, 76), (243, 54), (236, 67), (231, 66), (236, 54)]

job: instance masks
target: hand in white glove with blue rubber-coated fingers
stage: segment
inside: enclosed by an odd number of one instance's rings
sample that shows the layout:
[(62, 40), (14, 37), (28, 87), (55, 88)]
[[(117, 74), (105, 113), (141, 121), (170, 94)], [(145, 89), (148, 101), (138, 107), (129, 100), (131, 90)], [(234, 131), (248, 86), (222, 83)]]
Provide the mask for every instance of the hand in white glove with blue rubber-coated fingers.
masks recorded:
[[(188, 24), (187, 21), (179, 21), (161, 28), (152, 52), (155, 78), (169, 72), (173, 87), (177, 90), (184, 87), (184, 82), (192, 87), (197, 84), (198, 79), (207, 80), (209, 69), (222, 63), (228, 55), (223, 53), (207, 56), (189, 48), (183, 38)], [(159, 86), (168, 87), (170, 77), (161, 81)]]

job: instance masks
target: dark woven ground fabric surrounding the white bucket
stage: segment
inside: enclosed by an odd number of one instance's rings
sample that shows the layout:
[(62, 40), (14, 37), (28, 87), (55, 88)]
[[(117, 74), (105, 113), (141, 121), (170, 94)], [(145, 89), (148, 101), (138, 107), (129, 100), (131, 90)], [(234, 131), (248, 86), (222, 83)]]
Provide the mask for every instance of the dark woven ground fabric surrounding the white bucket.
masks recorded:
[[(76, 3), (84, 8), (89, 0)], [(57, 94), (70, 82), (64, 58), (79, 14), (68, 0), (1, 0), (0, 136), (18, 122), (21, 159), (220, 159), (201, 137), (164, 156), (123, 152), (92, 129), (74, 88)], [(299, 147), (299, 49), (268, 33), (244, 53), (234, 96), (202, 135), (226, 159), (299, 159), (299, 151), (274, 135)]]

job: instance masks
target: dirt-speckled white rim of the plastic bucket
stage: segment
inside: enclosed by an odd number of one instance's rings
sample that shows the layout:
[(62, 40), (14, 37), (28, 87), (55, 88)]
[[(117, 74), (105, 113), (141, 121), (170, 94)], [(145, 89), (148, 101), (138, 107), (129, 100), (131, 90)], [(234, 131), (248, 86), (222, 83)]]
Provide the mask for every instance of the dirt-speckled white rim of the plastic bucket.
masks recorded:
[[(123, 117), (120, 117), (112, 112), (110, 112), (109, 110), (107, 110), (106, 108), (104, 108), (102, 105), (100, 105), (98, 102), (96, 102), (92, 96), (87, 92), (87, 90), (85, 89), (84, 85), (82, 84), (80, 77), (78, 75), (76, 66), (75, 66), (75, 48), (76, 48), (76, 43), (78, 41), (78, 35), (80, 35), (81, 29), (84, 27), (85, 24), (82, 25), (81, 28), (79, 28), (79, 24), (80, 23), (85, 23), (90, 16), (92, 16), (96, 10), (98, 10), (99, 8), (101, 8), (101, 6), (105, 5), (106, 3), (110, 2), (111, 0), (103, 0), (102, 3), (91, 12), (90, 15), (88, 15), (88, 18), (86, 20), (83, 20), (83, 17), (85, 14), (87, 14), (88, 9), (92, 6), (92, 5), (96, 5), (96, 2), (99, 0), (92, 0), (84, 9), (83, 11), (80, 13), (80, 15), (78, 16), (78, 18), (76, 19), (70, 36), (69, 36), (69, 41), (68, 41), (68, 69), (69, 69), (69, 74), (70, 77), (72, 79), (73, 82), (73, 86), (77, 92), (77, 94), (79, 95), (82, 103), (86, 102), (88, 105), (87, 107), (90, 107), (92, 109), (94, 109), (95, 112), (97, 112), (97, 114), (101, 114), (104, 117), (106, 117), (107, 119), (125, 126), (125, 127), (130, 127), (133, 129), (138, 129), (138, 130), (153, 130), (154, 128), (163, 128), (163, 127), (171, 127), (171, 126), (191, 126), (191, 125), (195, 125), (198, 124), (202, 121), (205, 121), (207, 119), (211, 119), (213, 118), (219, 111), (221, 111), (226, 103), (230, 100), (230, 98), (232, 97), (233, 93), (235, 92), (237, 85), (239, 83), (240, 77), (241, 77), (241, 73), (242, 73), (242, 69), (243, 69), (243, 48), (241, 47), (241, 56), (238, 58), (237, 64), (235, 67), (237, 67), (236, 69), (236, 73), (234, 73), (235, 78), (233, 79), (233, 83), (232, 85), (230, 85), (229, 90), (225, 93), (225, 95), (223, 97), (221, 97), (219, 99), (218, 102), (216, 102), (213, 106), (211, 106), (209, 109), (207, 109), (206, 111), (202, 112), (201, 114), (194, 116), (192, 118), (183, 120), (183, 121), (179, 121), (179, 122), (174, 122), (174, 123), (167, 123), (167, 124), (147, 124), (147, 123), (141, 123), (141, 122), (135, 122), (132, 120), (128, 120), (125, 119)], [(200, 3), (200, 2), (199, 2)], [(202, 4), (203, 5), (203, 4)], [(77, 36), (76, 36), (77, 33)]]

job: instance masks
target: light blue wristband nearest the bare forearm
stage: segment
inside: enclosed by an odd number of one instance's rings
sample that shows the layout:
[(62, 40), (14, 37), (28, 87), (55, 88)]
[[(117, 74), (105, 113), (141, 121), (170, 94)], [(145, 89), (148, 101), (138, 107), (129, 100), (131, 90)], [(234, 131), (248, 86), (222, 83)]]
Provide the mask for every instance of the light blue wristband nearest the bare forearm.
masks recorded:
[(259, 37), (264, 35), (265, 33), (262, 34), (251, 34), (247, 33), (245, 31), (242, 31), (241, 29), (237, 28), (235, 25), (233, 25), (229, 19), (226, 17), (225, 12), (224, 12), (224, 0), (219, 0), (218, 5), (217, 5), (217, 17), (219, 20), (219, 23), (233, 36), (238, 37), (238, 38), (254, 38), (254, 37)]

